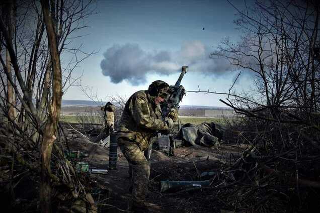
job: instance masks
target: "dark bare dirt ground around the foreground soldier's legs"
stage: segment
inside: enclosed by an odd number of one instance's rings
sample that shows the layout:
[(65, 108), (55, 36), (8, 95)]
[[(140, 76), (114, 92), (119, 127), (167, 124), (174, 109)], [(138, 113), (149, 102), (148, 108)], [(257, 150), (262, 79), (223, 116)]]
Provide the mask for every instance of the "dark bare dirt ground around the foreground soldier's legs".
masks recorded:
[[(128, 162), (118, 148), (117, 169), (109, 170), (109, 150), (95, 146), (86, 139), (69, 141), (70, 150), (90, 153), (81, 161), (88, 162), (90, 168), (107, 169), (108, 174), (90, 174), (95, 183), (91, 192), (98, 203), (99, 212), (124, 212), (129, 209)], [(222, 165), (234, 162), (246, 147), (221, 144), (216, 147), (180, 147), (169, 156), (152, 150), (149, 191), (146, 201), (150, 212), (221, 212), (216, 199), (206, 198), (208, 190), (193, 188), (190, 191), (160, 192), (161, 180), (200, 181), (210, 178), (200, 175), (202, 172), (219, 171)], [(227, 212), (227, 211), (225, 211)]]

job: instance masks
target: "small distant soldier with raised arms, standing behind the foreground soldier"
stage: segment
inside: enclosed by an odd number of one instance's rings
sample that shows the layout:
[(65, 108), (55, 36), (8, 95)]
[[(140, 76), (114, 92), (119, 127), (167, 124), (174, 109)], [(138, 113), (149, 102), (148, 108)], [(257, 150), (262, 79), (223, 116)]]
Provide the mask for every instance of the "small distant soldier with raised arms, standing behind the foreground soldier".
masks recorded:
[(102, 126), (102, 132), (97, 137), (96, 142), (107, 138), (114, 128), (114, 105), (108, 101), (104, 107), (101, 108), (101, 111), (104, 112), (104, 123)]

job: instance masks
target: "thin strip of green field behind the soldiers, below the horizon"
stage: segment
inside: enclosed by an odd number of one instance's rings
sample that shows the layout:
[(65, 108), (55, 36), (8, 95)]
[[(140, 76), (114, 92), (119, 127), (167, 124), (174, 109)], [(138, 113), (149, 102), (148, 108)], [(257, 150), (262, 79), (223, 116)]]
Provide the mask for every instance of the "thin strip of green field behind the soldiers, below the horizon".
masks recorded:
[[(201, 124), (203, 122), (216, 122), (221, 123), (221, 118), (203, 118), (203, 117), (180, 117), (182, 124)], [(60, 121), (68, 123), (93, 123), (102, 124), (101, 117), (98, 116), (74, 116), (74, 115), (61, 115)]]

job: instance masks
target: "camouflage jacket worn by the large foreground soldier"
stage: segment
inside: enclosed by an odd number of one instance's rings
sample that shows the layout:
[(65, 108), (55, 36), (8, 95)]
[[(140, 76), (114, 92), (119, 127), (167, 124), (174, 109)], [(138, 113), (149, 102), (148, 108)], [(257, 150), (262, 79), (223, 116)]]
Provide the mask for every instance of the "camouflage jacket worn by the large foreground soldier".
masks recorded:
[(157, 130), (168, 130), (161, 115), (159, 104), (153, 102), (147, 90), (135, 92), (126, 102), (118, 125), (117, 139), (132, 141), (137, 143), (141, 151), (145, 150)]

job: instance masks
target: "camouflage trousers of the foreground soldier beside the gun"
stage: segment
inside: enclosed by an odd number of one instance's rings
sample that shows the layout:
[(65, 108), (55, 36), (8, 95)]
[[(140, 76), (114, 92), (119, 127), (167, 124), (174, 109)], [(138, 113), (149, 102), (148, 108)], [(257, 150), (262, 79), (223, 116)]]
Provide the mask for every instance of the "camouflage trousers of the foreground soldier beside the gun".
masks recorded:
[(120, 149), (129, 163), (129, 178), (132, 187), (132, 201), (143, 204), (148, 191), (150, 163), (137, 144), (118, 139)]

